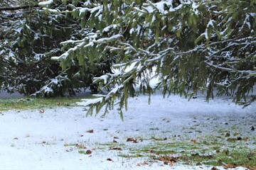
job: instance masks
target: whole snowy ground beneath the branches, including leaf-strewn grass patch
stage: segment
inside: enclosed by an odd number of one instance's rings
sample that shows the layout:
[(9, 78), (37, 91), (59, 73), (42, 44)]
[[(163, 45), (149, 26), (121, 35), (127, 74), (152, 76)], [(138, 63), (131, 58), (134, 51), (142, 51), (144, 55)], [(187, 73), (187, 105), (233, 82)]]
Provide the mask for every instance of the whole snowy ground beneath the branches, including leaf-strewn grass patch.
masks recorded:
[(0, 169), (255, 169), (255, 108), (161, 94), (130, 98), (124, 121), (58, 103), (0, 108)]

